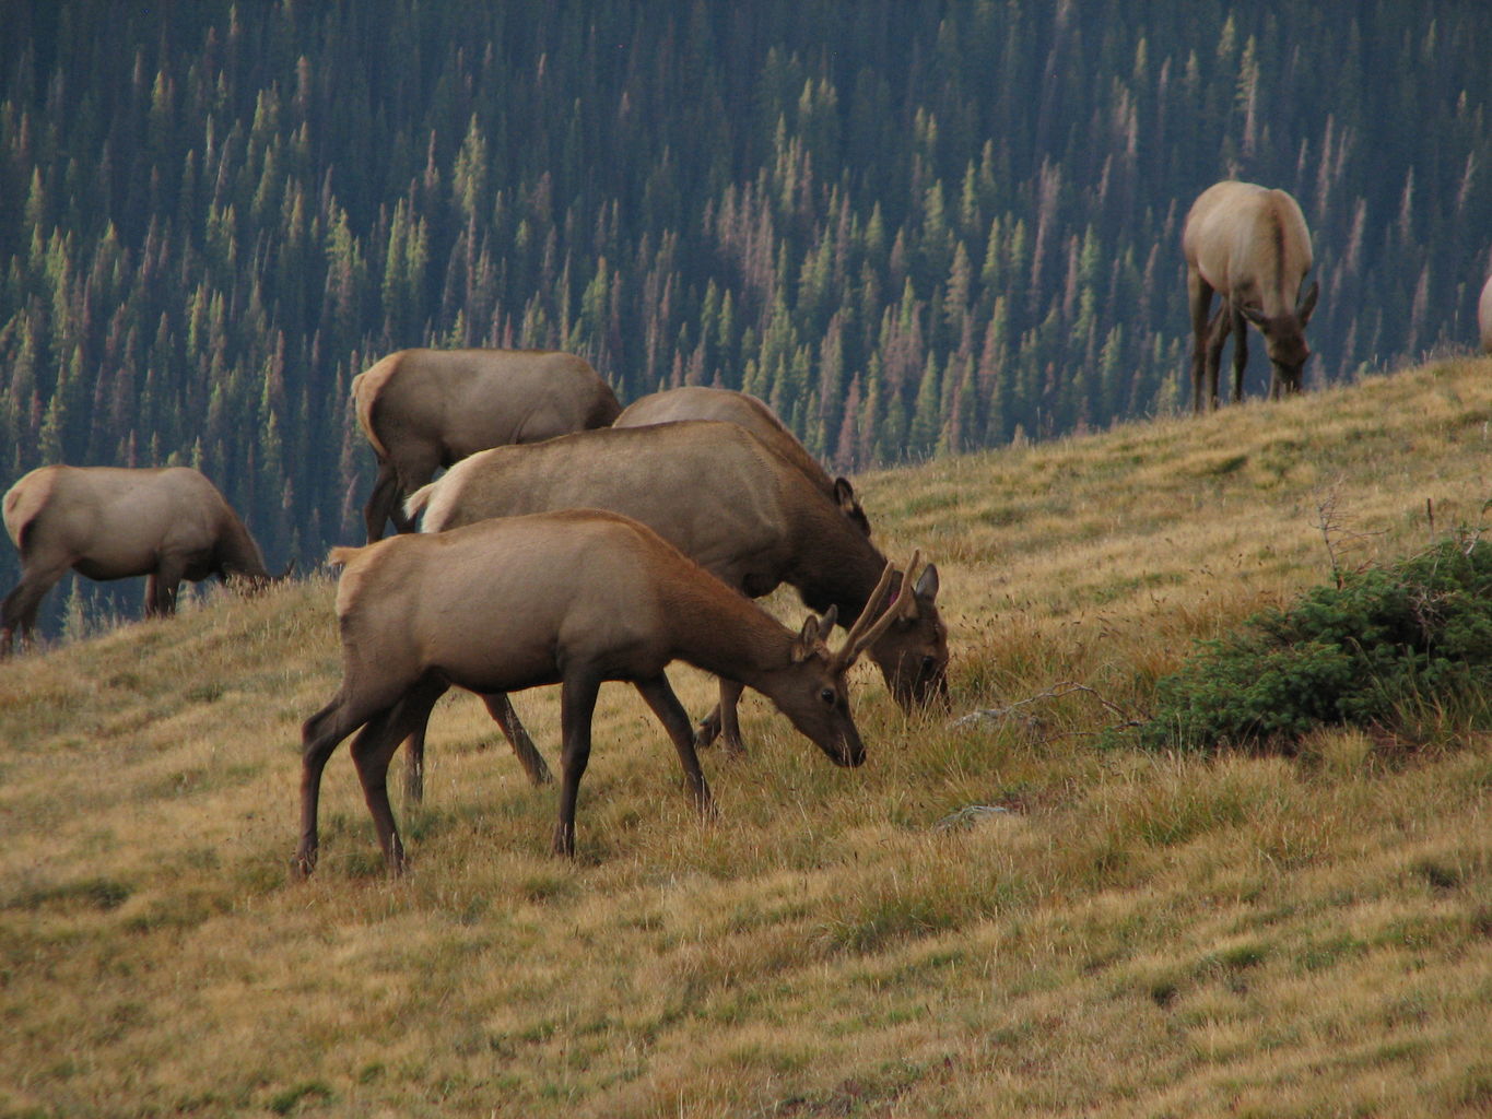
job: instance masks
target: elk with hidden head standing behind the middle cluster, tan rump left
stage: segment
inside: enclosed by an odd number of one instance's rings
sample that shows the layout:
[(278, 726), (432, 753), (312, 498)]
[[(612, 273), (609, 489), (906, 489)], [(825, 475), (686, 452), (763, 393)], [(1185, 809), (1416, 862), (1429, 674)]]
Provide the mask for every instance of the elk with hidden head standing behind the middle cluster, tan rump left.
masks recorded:
[(401, 349), (352, 379), (358, 425), (377, 457), (363, 510), (369, 542), (400, 501), (477, 451), (606, 427), (622, 410), (585, 358), (539, 349)]

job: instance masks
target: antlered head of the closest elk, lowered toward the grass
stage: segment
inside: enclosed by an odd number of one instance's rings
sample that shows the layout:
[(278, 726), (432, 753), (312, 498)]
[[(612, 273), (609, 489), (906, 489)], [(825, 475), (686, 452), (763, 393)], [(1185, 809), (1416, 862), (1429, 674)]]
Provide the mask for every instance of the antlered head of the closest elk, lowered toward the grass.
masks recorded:
[[(918, 557), (913, 554), (912, 567), (916, 562)], [(803, 630), (792, 639), (789, 667), (783, 670), (779, 685), (768, 692), (777, 710), (786, 715), (792, 725), (836, 765), (859, 765), (865, 761), (865, 745), (849, 712), (849, 688), (844, 677), (859, 655), (880, 639), (906, 609), (906, 604), (892, 604), (880, 618), (871, 621), (874, 607), (891, 586), (894, 574), (892, 565), (886, 564), (876, 592), (849, 628), (844, 643), (836, 651), (831, 651), (825, 640), (834, 628), (836, 607), (831, 606), (822, 618), (809, 615)]]

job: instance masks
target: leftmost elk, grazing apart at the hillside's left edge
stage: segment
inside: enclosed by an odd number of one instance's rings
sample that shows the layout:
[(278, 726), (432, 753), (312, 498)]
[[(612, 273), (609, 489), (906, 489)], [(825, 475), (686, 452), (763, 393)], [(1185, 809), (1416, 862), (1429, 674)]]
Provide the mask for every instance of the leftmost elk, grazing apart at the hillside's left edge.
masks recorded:
[(100, 580), (149, 576), (148, 616), (176, 610), (182, 579), (272, 579), (243, 521), (191, 467), (39, 467), (6, 492), (4, 527), (21, 552), (21, 582), (0, 606), (0, 656), (16, 630), (30, 637), (42, 598), (69, 568)]

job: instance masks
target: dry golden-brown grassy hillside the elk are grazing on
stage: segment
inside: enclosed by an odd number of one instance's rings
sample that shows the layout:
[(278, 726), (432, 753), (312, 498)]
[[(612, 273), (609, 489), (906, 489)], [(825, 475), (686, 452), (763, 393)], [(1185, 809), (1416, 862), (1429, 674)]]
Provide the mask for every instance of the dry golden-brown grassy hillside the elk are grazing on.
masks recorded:
[[(941, 567), (953, 715), (1006, 715), (907, 721), (862, 665), (840, 771), (749, 700), (700, 824), (610, 685), (574, 865), (455, 697), (413, 873), (342, 749), (288, 880), (330, 580), (0, 665), (0, 1115), (1485, 1115), (1486, 737), (1095, 740), (1334, 558), (1479, 525), (1489, 425), (1462, 360), (865, 477)], [(518, 706), (554, 756), (557, 697)]]

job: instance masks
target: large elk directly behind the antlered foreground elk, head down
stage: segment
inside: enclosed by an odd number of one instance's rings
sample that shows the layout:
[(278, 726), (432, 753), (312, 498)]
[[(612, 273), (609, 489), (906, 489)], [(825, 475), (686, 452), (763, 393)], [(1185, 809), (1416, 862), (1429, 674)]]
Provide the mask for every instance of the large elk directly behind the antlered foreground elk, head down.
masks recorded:
[[(812, 610), (834, 606), (841, 618), (858, 618), (885, 609), (874, 588), (886, 558), (795, 464), (736, 424), (604, 428), (495, 448), (458, 463), (406, 506), (410, 516), (424, 513), (427, 533), (489, 516), (579, 507), (642, 521), (752, 598), (786, 582)], [(897, 574), (892, 594), (900, 592)], [(947, 636), (937, 592), (938, 573), (928, 564), (904, 600), (906, 610), (868, 648), (904, 709), (947, 697)], [(703, 742), (721, 734), (727, 747), (742, 749), (739, 695), (740, 685), (722, 676), (721, 706), (701, 728)], [(527, 739), (512, 731), (516, 715), (500, 710), (494, 718), (522, 753)], [(407, 764), (409, 792), (418, 798), (418, 737)]]

